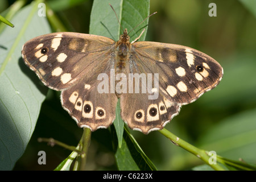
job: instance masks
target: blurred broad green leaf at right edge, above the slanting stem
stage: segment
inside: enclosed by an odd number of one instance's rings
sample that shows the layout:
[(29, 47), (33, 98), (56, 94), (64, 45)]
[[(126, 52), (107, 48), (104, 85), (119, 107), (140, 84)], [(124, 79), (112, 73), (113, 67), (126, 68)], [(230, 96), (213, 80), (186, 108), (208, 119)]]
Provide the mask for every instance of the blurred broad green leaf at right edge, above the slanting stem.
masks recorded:
[(200, 148), (214, 150), (228, 159), (255, 161), (256, 109), (220, 121), (200, 137)]

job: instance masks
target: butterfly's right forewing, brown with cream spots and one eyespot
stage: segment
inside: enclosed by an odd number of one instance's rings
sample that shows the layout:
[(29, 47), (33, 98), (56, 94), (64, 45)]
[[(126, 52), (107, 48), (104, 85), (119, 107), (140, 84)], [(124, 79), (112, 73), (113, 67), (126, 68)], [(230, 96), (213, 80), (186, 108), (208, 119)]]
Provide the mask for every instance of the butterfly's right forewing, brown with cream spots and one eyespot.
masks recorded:
[(160, 92), (173, 102), (182, 105), (193, 102), (222, 78), (221, 65), (196, 49), (156, 42), (138, 42), (133, 46), (141, 60), (138, 66), (159, 73)]

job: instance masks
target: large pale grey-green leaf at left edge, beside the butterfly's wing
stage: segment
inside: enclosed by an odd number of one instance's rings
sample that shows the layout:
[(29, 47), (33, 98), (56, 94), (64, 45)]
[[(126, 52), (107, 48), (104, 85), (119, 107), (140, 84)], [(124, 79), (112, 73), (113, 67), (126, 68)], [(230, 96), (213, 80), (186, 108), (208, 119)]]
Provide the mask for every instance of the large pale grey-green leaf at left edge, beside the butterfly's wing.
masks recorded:
[(0, 170), (10, 170), (22, 156), (34, 131), (47, 89), (24, 64), (22, 45), (50, 32), (38, 3), (18, 11), (0, 35)]

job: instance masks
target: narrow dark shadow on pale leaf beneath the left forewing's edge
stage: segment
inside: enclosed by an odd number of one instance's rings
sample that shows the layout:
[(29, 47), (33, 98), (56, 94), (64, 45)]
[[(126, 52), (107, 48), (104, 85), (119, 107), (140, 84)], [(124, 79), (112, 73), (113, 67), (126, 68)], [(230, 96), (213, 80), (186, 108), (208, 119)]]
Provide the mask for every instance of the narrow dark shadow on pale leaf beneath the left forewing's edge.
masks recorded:
[(40, 90), (40, 92), (42, 94), (44, 94), (44, 96), (46, 96), (48, 88), (39, 80), (39, 78), (38, 78), (38, 76), (36, 76), (35, 72), (33, 72), (30, 68), (28, 68), (26, 66), (22, 57), (19, 58), (18, 64), (19, 64), (21, 71), (25, 75), (27, 75), (27, 77), (29, 77), (30, 80), (35, 84), (36, 88), (38, 88), (38, 90)]

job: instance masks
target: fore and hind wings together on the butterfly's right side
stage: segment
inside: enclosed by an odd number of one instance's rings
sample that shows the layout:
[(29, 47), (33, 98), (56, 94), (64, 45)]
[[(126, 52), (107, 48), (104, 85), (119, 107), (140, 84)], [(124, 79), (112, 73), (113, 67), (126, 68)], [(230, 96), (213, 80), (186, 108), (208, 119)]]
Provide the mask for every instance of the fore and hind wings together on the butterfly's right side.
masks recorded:
[[(163, 129), (179, 113), (181, 105), (189, 104), (213, 89), (223, 74), (221, 65), (212, 57), (185, 46), (136, 42), (130, 53), (131, 73), (159, 75), (154, 80), (159, 83), (159, 88), (151, 90), (158, 92), (158, 98), (149, 100), (149, 93), (138, 97), (135, 94), (121, 95), (123, 119), (132, 129), (145, 134)], [(128, 101), (134, 102), (134, 107), (126, 112)]]

